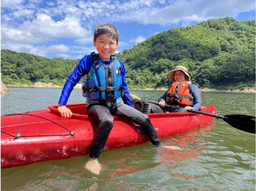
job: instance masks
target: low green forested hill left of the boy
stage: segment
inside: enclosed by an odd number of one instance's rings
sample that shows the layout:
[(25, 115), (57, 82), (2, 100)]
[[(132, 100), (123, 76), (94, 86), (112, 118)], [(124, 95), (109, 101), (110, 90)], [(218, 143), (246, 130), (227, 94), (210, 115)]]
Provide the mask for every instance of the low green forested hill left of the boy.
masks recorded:
[(37, 81), (64, 85), (79, 60), (45, 58), (28, 53), (1, 50), (1, 73), (4, 84), (28, 84)]

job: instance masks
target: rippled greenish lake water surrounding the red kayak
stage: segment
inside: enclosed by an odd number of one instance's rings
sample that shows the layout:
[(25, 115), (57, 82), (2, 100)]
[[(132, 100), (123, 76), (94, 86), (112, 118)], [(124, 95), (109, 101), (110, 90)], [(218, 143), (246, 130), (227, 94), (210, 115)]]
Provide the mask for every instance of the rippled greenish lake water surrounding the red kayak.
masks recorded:
[[(1, 115), (46, 109), (57, 104), (61, 89), (9, 88), (1, 96)], [(156, 101), (164, 91), (131, 90)], [(204, 105), (217, 113), (255, 116), (255, 94), (202, 92)], [(74, 89), (68, 103), (85, 102)], [(1, 190), (255, 190), (255, 134), (215, 119), (207, 126), (161, 139), (181, 151), (150, 142), (102, 152), (99, 175), (84, 168), (88, 156), (46, 161), (1, 170)]]

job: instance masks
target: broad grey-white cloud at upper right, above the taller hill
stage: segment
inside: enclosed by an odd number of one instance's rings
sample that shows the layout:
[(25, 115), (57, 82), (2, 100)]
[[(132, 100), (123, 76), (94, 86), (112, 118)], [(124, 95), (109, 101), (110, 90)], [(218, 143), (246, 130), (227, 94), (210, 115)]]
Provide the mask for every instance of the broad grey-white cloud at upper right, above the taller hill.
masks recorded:
[(177, 24), (180, 21), (203, 21), (211, 18), (236, 17), (240, 12), (255, 10), (251, 0), (179, 0), (162, 9), (145, 10), (142, 15), (144, 24)]

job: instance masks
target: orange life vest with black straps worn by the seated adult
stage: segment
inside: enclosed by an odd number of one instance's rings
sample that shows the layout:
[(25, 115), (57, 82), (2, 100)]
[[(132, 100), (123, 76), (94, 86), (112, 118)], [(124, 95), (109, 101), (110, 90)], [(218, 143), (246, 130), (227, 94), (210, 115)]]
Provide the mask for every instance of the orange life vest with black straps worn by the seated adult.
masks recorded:
[[(196, 84), (197, 87), (200, 89), (200, 86), (195, 82), (188, 83), (187, 81), (178, 82), (174, 81), (172, 83), (172, 87), (167, 92), (166, 103), (167, 104), (180, 104), (186, 106), (194, 106), (194, 98), (192, 97), (192, 85)], [(188, 91), (190, 90), (190, 93)]]

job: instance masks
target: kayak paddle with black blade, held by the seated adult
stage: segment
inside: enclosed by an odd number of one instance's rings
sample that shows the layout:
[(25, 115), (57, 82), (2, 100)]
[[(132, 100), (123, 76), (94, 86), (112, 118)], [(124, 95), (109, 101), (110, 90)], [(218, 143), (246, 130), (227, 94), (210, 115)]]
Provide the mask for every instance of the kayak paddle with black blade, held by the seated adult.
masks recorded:
[[(147, 102), (154, 103), (154, 104), (158, 105), (157, 102), (152, 102), (152, 101), (147, 101)], [(175, 109), (180, 109), (180, 107), (167, 105), (167, 104), (165, 104), (165, 107), (172, 107)], [(203, 111), (195, 111), (195, 110), (188, 110), (188, 111), (191, 113), (208, 115), (211, 117), (215, 117), (217, 119), (220, 118), (220, 119), (226, 121), (230, 126), (235, 127), (236, 129), (255, 134), (255, 116), (242, 115), (242, 114), (221, 116), (219, 114), (206, 113)]]

